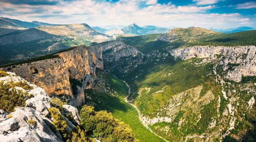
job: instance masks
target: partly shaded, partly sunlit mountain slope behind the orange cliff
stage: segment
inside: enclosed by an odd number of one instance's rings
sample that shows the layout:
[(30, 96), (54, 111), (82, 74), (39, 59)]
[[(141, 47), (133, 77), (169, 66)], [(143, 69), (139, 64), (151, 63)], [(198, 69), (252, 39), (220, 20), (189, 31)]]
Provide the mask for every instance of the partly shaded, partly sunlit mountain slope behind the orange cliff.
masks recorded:
[(87, 24), (43, 26), (26, 30), (1, 29), (1, 65), (111, 39), (96, 32)]

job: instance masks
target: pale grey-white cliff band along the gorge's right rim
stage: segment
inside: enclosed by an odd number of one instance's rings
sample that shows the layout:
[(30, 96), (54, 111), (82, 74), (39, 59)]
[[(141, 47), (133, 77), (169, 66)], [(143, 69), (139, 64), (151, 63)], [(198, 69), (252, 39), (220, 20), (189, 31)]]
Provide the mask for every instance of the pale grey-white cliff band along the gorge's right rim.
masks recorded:
[(175, 58), (187, 60), (190, 58), (204, 58), (204, 62), (221, 60), (224, 71), (228, 71), (225, 78), (236, 82), (242, 76), (256, 76), (256, 47), (255, 46), (192, 46), (170, 50)]

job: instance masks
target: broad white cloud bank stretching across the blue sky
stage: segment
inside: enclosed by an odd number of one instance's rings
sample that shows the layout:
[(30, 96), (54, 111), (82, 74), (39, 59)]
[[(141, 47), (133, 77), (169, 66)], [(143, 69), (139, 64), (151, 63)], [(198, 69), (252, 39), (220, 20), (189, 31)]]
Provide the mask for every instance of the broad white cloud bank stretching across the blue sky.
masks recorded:
[[(141, 26), (156, 25), (161, 27), (215, 27), (229, 28), (239, 27), (241, 23), (247, 22), (247, 26), (255, 25), (253, 19), (238, 13), (233, 14), (207, 14), (204, 11), (216, 8), (208, 6), (176, 6), (168, 4), (151, 4), (144, 8), (139, 7), (141, 3), (149, 0), (119, 0), (118, 2), (107, 2), (105, 0), (75, 0), (72, 2), (60, 2), (58, 5), (44, 6), (4, 6), (4, 8), (15, 7), (14, 11), (5, 11), (2, 17), (20, 19), (24, 21), (42, 21), (53, 24), (87, 23), (90, 26), (107, 25), (129, 25), (137, 23)], [(22, 14), (16, 12), (22, 9), (41, 10), (42, 12), (31, 12)], [(14, 15), (15, 13), (15, 15)], [(241, 21), (243, 19), (243, 21)], [(247, 19), (247, 20), (245, 20)]]

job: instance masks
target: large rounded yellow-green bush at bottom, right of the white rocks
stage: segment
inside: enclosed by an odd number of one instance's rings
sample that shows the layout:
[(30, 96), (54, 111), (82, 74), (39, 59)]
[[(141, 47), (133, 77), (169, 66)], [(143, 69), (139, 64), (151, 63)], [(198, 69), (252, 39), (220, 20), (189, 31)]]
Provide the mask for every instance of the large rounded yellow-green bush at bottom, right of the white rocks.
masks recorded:
[(86, 133), (101, 142), (137, 141), (131, 128), (115, 119), (107, 111), (94, 111), (94, 107), (83, 106), (80, 111), (81, 125)]

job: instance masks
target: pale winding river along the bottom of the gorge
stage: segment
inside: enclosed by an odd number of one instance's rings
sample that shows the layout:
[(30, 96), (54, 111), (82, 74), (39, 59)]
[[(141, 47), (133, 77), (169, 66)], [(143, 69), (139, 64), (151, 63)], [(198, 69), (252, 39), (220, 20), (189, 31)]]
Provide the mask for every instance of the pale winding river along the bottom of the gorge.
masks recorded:
[[(130, 96), (130, 94), (131, 94), (131, 88), (130, 88), (130, 86), (128, 85), (128, 83), (127, 83), (126, 81), (123, 81), (123, 82), (124, 82), (124, 83), (126, 84), (126, 86), (128, 87), (128, 89), (129, 89), (129, 90), (128, 90), (128, 96)], [(153, 131), (148, 127), (148, 125), (146, 124), (146, 122), (142, 119), (141, 113), (140, 113), (140, 111), (138, 110), (138, 108), (137, 108), (134, 104), (128, 102), (128, 99), (127, 99), (128, 96), (125, 98), (125, 102), (128, 103), (128, 104), (130, 104), (132, 107), (134, 107), (134, 108), (136, 109), (141, 124), (143, 124), (143, 126), (146, 127), (146, 129), (149, 130), (151, 133), (153, 133), (153, 134), (155, 134), (156, 136), (158, 136), (159, 138), (163, 139), (165, 142), (169, 142), (169, 141), (167, 141), (165, 138), (163, 138), (162, 136), (160, 136), (160, 135), (156, 134), (155, 132), (153, 132)]]

